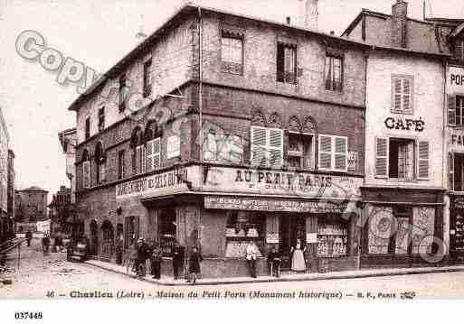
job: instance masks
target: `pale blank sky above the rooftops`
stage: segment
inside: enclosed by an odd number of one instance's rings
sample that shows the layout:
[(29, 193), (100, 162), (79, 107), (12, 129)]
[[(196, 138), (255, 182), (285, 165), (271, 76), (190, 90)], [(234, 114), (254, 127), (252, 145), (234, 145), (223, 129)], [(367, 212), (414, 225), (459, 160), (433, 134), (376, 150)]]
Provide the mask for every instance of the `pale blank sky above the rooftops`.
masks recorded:
[[(362, 8), (391, 13), (395, 0), (319, 0), (318, 29), (343, 32)], [(184, 0), (0, 0), (0, 107), (15, 153), (16, 188), (39, 186), (50, 193), (69, 186), (58, 133), (75, 126), (68, 106), (76, 87), (57, 83), (57, 73), (25, 60), (15, 50), (26, 30), (43, 35), (46, 46), (64, 58), (99, 72), (111, 68)], [(285, 22), (298, 16), (299, 0), (196, 0), (194, 3)], [(410, 0), (409, 16), (421, 19), (421, 0)], [(428, 16), (464, 17), (462, 0), (428, 0)], [(51, 199), (51, 194), (49, 199)]]

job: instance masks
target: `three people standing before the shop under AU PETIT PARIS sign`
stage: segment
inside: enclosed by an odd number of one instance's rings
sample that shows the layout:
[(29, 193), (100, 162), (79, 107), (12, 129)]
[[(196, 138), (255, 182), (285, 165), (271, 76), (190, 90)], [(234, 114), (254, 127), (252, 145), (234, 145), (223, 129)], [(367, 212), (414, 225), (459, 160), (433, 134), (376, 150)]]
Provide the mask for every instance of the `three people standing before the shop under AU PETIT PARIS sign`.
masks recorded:
[[(306, 246), (303, 247), (301, 240), (298, 238), (295, 246), (290, 249), (290, 269), (294, 272), (306, 271), (305, 255)], [(258, 247), (254, 242), (250, 242), (246, 246), (246, 259), (248, 264), (248, 270), (252, 278), (256, 278), (256, 259), (258, 257)], [(268, 254), (268, 266), (270, 269), (270, 275), (279, 277), (280, 274), (281, 257), (276, 245), (273, 245)]]

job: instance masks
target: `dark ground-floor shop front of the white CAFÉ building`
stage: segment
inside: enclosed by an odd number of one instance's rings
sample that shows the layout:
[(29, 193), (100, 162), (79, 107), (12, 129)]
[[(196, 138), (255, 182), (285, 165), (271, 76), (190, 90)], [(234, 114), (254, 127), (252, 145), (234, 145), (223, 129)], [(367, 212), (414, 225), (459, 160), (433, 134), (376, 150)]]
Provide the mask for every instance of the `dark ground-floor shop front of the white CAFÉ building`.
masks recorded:
[(435, 266), (445, 262), (443, 189), (361, 188), (361, 268)]

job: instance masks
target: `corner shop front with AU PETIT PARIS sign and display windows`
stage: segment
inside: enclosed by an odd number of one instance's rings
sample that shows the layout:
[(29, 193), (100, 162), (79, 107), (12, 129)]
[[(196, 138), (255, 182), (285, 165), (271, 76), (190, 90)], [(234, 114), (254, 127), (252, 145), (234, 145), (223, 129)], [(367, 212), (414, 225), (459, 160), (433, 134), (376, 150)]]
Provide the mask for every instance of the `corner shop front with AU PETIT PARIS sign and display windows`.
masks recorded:
[(273, 246), (282, 256), (282, 271), (291, 271), (298, 241), (304, 272), (354, 270), (362, 181), (311, 172), (190, 165), (120, 184), (117, 201), (127, 219), (137, 208), (139, 236), (161, 245), (166, 274), (172, 274), (169, 258), (175, 241), (185, 246), (186, 255), (193, 246), (200, 248), (203, 277), (247, 276), (250, 244), (259, 251), (258, 275), (268, 273), (266, 257)]

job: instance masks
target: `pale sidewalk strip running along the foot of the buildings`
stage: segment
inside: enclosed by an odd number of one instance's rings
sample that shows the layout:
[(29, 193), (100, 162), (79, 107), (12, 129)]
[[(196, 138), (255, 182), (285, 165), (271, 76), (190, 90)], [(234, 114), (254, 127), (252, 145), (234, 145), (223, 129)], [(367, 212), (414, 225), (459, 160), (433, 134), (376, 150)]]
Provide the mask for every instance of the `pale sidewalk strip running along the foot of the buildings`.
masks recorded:
[[(109, 264), (102, 261), (89, 260), (85, 262), (103, 270), (108, 270), (112, 273), (120, 273), (135, 278), (134, 273), (126, 273), (126, 267), (118, 264)], [(216, 285), (216, 284), (232, 284), (232, 283), (250, 283), (250, 282), (303, 282), (309, 280), (328, 280), (328, 279), (348, 279), (348, 278), (368, 278), (381, 277), (403, 274), (419, 274), (419, 273), (452, 273), (464, 272), (464, 265), (452, 265), (441, 267), (427, 268), (400, 268), (400, 269), (369, 269), (344, 271), (336, 273), (305, 273), (305, 274), (282, 274), (279, 278), (270, 276), (260, 276), (258, 278), (251, 277), (233, 277), (233, 278), (205, 278), (197, 280), (197, 285)], [(164, 286), (187, 286), (192, 283), (185, 280), (174, 280), (170, 276), (162, 276), (160, 280), (152, 279), (151, 275), (147, 274), (145, 281), (153, 282)]]

